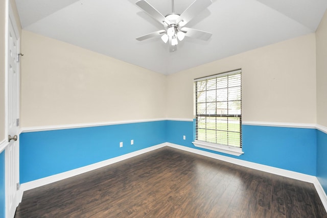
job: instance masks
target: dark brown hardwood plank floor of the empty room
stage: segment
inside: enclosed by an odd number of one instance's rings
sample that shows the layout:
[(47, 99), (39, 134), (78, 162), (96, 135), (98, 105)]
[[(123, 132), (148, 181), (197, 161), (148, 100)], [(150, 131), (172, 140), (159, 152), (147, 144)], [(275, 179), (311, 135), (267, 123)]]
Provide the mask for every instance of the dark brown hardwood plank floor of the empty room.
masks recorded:
[(24, 192), (20, 217), (327, 217), (311, 183), (162, 148)]

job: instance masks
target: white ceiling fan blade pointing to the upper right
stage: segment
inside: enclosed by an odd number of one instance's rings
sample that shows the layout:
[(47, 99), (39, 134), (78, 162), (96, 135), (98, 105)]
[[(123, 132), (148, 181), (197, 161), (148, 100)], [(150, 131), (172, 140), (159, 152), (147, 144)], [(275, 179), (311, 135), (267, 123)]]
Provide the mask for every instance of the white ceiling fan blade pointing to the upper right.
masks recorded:
[(177, 18), (176, 23), (183, 20), (182, 25), (184, 26), (193, 17), (198, 15), (201, 11), (211, 5), (211, 0), (195, 0), (186, 10)]

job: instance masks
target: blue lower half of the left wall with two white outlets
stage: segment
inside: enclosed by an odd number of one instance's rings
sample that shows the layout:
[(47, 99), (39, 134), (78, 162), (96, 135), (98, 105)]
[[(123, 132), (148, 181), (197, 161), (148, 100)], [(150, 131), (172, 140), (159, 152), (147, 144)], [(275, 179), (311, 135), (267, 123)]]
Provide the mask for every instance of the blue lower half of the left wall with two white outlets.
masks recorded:
[[(130, 144), (130, 140), (134, 144)], [(123, 148), (119, 147), (123, 142)], [(20, 183), (166, 142), (166, 120), (20, 134)]]

